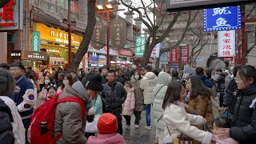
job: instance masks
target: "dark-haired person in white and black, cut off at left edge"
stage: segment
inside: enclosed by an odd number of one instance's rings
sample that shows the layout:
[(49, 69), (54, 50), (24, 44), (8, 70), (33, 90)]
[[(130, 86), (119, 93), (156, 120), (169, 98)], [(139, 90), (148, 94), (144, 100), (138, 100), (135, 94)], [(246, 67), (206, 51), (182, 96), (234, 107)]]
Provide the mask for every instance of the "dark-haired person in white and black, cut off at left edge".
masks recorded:
[(24, 144), (25, 131), (22, 117), (10, 94), (14, 92), (15, 80), (7, 70), (0, 70), (0, 143)]

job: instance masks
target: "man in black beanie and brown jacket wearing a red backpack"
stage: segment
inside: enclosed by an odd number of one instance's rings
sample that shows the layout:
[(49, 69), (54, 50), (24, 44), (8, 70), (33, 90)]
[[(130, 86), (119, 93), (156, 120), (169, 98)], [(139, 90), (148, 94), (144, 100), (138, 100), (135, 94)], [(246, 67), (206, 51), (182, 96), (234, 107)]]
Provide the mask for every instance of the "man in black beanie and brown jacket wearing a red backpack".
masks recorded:
[[(99, 75), (100, 76), (100, 75)], [(98, 78), (98, 76), (91, 76), (92, 79)], [(101, 91), (103, 86), (100, 83), (95, 85), (94, 81), (88, 78), (86, 86), (84, 82), (74, 82), (72, 86), (66, 85), (65, 90), (59, 95), (58, 100), (66, 97), (81, 98), (86, 104), (86, 114), (91, 106), (91, 99), (94, 99), (98, 95), (98, 91)], [(101, 82), (101, 76), (98, 79)], [(86, 87), (86, 88), (85, 88)], [(54, 137), (63, 133), (63, 137), (56, 143), (86, 143), (85, 126), (86, 118), (88, 115), (81, 115), (81, 106), (77, 102), (62, 102), (56, 106), (55, 119), (54, 119)]]

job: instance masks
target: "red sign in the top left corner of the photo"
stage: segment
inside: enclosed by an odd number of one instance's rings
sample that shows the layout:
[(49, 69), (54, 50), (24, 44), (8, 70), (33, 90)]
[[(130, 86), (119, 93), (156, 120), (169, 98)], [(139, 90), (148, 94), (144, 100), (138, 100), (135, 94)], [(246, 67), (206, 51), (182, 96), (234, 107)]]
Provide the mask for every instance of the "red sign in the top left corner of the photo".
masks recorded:
[(14, 0), (10, 0), (5, 6), (2, 7), (0, 12), (0, 26), (15, 26), (14, 22)]

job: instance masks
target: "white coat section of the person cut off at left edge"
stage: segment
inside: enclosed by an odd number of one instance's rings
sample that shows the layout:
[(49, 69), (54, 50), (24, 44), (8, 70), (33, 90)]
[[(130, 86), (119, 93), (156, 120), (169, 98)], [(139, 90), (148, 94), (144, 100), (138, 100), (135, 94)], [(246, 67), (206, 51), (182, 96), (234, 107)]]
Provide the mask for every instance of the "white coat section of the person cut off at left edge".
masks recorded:
[(11, 122), (11, 126), (13, 126), (14, 144), (25, 143), (25, 132), (22, 117), (18, 114), (18, 110), (14, 101), (6, 96), (0, 96), (0, 99), (2, 99), (2, 101), (4, 101), (7, 106), (9, 106), (12, 118), (14, 119), (14, 122)]

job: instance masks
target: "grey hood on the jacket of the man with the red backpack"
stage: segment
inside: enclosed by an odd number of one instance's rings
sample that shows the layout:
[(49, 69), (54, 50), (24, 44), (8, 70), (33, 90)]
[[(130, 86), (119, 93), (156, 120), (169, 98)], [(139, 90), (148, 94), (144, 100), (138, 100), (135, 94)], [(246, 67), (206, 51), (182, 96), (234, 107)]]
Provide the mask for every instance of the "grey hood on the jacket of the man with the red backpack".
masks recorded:
[(74, 82), (74, 84), (72, 85), (72, 89), (74, 89), (75, 91), (78, 92), (78, 94), (81, 94), (82, 97), (85, 99), (86, 102), (86, 111), (88, 112), (90, 107), (91, 107), (91, 102), (90, 102), (90, 98), (88, 97), (87, 93), (86, 93), (86, 89), (84, 86), (82, 86), (82, 82), (77, 81)]

